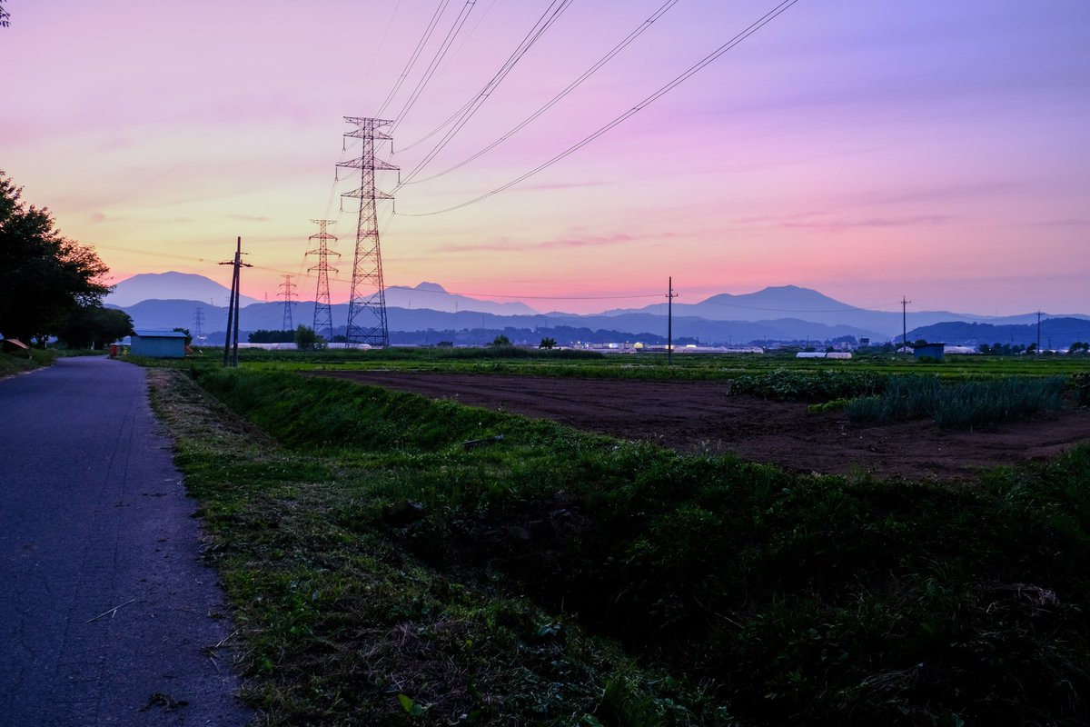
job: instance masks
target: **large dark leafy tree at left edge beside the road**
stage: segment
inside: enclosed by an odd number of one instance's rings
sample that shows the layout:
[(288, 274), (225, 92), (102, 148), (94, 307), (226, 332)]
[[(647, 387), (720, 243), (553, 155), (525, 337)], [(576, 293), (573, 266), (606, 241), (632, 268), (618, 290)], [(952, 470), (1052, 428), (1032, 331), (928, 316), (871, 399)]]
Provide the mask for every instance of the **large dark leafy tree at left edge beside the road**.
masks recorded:
[(81, 307), (110, 289), (95, 251), (63, 238), (46, 208), (26, 205), (0, 171), (0, 334), (45, 344)]

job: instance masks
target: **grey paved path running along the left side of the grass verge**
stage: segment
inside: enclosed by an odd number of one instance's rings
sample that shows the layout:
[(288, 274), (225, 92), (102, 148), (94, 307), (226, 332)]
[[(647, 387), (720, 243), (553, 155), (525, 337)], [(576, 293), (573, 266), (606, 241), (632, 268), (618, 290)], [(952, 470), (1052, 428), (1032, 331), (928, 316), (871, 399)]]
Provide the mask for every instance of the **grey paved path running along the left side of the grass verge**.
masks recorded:
[(101, 358), (0, 379), (2, 727), (251, 716), (202, 651), (230, 626), (146, 390)]

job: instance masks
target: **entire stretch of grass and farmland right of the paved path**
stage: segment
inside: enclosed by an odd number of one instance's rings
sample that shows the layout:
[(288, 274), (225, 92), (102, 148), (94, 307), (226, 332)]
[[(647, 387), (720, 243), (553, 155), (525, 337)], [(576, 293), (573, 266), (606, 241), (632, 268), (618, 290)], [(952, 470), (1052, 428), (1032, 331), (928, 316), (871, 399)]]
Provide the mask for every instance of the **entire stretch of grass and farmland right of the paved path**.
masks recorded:
[(263, 724), (1075, 727), (1085, 363), (376, 351), (152, 378)]

